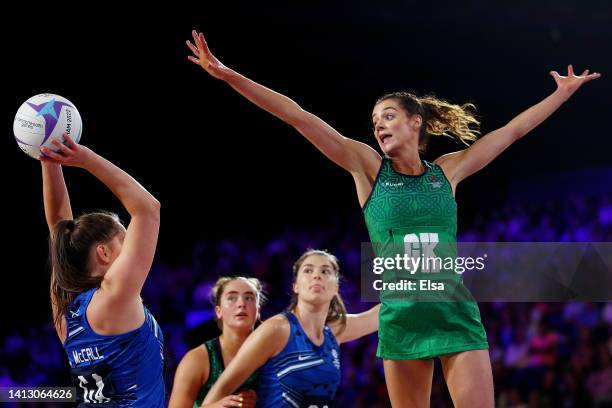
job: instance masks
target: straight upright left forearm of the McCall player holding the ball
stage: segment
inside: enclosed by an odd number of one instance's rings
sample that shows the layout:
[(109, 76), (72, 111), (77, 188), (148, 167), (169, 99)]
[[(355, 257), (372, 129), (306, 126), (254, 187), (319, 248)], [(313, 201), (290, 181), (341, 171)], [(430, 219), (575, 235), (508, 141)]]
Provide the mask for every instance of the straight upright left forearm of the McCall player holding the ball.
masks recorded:
[(57, 163), (42, 161), (41, 167), (45, 219), (49, 230), (51, 230), (59, 221), (72, 219), (72, 208), (62, 166)]

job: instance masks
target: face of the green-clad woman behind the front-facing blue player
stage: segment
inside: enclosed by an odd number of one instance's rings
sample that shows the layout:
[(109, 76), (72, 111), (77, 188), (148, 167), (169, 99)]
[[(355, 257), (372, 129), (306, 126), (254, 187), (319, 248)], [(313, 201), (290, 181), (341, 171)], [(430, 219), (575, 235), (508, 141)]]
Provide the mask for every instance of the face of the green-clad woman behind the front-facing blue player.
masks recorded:
[(248, 282), (236, 279), (223, 288), (220, 306), (215, 307), (223, 327), (251, 331), (259, 314), (257, 290)]

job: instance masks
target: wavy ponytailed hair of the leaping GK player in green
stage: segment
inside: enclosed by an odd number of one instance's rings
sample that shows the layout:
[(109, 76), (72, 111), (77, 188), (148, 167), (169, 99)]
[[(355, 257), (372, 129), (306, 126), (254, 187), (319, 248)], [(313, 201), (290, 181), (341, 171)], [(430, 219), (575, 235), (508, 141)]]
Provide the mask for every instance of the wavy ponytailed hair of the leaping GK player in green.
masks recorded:
[(392, 92), (379, 98), (376, 104), (387, 99), (396, 99), (409, 116), (423, 118), (419, 134), (421, 153), (427, 149), (431, 136), (447, 136), (468, 146), (480, 134), (480, 122), (472, 112), (476, 106), (472, 103), (455, 105), (432, 95), (418, 97), (410, 92)]

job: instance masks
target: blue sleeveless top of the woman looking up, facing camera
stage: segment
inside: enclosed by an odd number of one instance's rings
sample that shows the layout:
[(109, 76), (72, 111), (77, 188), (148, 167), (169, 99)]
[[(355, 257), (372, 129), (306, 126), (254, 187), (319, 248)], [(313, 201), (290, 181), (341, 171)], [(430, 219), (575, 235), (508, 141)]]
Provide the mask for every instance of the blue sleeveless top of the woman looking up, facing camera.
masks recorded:
[(316, 346), (297, 317), (285, 313), (291, 333), (287, 345), (259, 371), (258, 407), (331, 407), (340, 384), (340, 348), (331, 329)]

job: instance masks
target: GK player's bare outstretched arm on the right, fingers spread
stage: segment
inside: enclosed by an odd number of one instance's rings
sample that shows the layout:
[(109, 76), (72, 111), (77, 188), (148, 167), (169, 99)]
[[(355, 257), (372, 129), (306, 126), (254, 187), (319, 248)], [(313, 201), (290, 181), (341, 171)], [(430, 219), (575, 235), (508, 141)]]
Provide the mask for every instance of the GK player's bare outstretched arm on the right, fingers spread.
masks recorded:
[(567, 68), (567, 76), (561, 76), (556, 71), (551, 71), (550, 75), (557, 83), (557, 89), (546, 99), (519, 114), (506, 126), (486, 134), (469, 148), (436, 160), (451, 182), (453, 191), (461, 180), (485, 167), (508, 146), (552, 115), (582, 84), (601, 76), (598, 73), (589, 74), (588, 69), (582, 75), (574, 75), (571, 65)]

